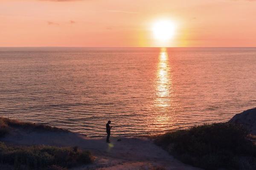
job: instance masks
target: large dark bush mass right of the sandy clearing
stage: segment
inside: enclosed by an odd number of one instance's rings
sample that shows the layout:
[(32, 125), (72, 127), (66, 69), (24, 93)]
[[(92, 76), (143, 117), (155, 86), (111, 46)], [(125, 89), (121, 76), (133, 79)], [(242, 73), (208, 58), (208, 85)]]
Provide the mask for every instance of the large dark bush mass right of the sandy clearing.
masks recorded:
[(207, 170), (256, 169), (256, 146), (238, 125), (218, 123), (177, 130), (157, 136), (155, 143), (184, 163)]

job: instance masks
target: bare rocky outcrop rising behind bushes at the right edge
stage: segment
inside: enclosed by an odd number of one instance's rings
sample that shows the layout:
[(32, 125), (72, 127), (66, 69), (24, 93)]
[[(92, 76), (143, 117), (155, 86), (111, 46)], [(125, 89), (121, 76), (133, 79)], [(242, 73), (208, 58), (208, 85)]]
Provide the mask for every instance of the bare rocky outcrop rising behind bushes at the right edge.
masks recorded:
[(256, 135), (256, 108), (236, 114), (229, 122), (243, 125), (249, 133)]

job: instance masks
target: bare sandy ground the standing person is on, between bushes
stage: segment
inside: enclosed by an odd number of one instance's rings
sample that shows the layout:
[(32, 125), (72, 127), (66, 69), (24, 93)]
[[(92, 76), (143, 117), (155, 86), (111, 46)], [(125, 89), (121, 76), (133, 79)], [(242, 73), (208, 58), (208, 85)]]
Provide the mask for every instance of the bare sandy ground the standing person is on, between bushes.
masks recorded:
[[(117, 139), (121, 141), (118, 142)], [(71, 132), (14, 129), (1, 141), (21, 145), (78, 146), (80, 149), (90, 150), (96, 157), (93, 164), (73, 170), (199, 170), (174, 159), (148, 138), (111, 136), (111, 143), (106, 143), (105, 138), (89, 138)]]

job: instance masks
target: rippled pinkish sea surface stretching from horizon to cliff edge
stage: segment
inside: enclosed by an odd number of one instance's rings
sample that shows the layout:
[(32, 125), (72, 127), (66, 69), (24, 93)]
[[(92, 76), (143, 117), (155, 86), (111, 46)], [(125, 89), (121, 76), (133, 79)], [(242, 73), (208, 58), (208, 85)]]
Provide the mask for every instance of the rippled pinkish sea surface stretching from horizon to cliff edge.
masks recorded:
[(256, 48), (0, 48), (0, 116), (87, 136), (164, 133), (256, 107)]

